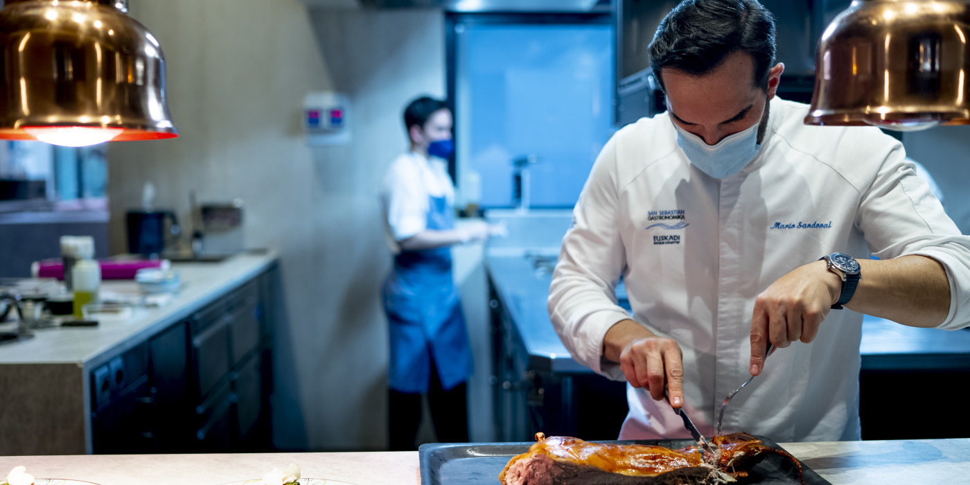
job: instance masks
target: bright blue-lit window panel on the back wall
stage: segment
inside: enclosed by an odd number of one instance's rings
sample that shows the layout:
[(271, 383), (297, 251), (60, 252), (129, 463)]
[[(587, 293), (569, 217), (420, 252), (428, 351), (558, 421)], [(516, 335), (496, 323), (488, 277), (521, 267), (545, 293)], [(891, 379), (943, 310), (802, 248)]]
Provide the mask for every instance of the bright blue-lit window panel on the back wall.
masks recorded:
[(572, 207), (614, 132), (613, 27), (469, 23), (456, 34), (462, 201), (512, 207), (512, 161), (534, 154), (531, 206)]

